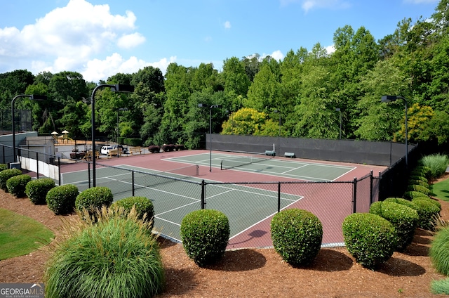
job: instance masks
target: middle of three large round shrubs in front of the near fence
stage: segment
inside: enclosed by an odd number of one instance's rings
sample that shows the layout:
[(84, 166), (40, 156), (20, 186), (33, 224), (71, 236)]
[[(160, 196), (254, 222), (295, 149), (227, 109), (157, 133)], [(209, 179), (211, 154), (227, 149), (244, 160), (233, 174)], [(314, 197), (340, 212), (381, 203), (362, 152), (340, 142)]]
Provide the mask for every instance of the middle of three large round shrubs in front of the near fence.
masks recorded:
[(311, 264), (323, 240), (321, 221), (302, 209), (286, 209), (275, 214), (271, 233), (274, 250), (293, 266)]

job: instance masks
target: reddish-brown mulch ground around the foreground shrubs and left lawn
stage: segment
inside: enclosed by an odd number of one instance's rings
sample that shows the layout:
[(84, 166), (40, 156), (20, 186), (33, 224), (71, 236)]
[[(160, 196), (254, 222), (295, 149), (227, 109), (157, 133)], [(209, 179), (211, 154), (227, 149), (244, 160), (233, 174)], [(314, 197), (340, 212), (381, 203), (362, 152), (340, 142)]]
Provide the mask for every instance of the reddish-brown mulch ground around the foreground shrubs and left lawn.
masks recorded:
[[(449, 202), (441, 205), (447, 221)], [(32, 217), (57, 235), (65, 218), (2, 190), (0, 207)], [(427, 257), (432, 237), (418, 229), (406, 252), (395, 252), (377, 271), (356, 264), (344, 247), (321, 249), (307, 268), (293, 268), (273, 249), (227, 251), (219, 264), (199, 268), (182, 245), (161, 239), (166, 291), (159, 297), (438, 297), (430, 292), (431, 280), (445, 277)], [(46, 259), (38, 250), (0, 261), (0, 283), (41, 282)]]

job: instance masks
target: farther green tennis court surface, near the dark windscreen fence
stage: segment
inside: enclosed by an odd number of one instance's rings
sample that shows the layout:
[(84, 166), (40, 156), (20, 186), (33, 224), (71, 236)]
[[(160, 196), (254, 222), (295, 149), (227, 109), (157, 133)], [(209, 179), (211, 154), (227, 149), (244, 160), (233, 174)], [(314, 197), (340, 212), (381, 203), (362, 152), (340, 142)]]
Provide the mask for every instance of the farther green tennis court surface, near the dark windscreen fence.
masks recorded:
[[(225, 167), (232, 167), (239, 164), (239, 161), (233, 162), (236, 157), (243, 157), (243, 160), (248, 158), (246, 155), (213, 153), (212, 159), (210, 159), (210, 154), (203, 153), (199, 155), (172, 157), (167, 158), (166, 160), (202, 166), (210, 166), (210, 164), (212, 164), (212, 167), (220, 169), (223, 164), (225, 164)], [(250, 158), (253, 158), (255, 162), (252, 164), (237, 165), (237, 167), (232, 167), (231, 169), (225, 169), (223, 171), (249, 171), (308, 181), (334, 181), (340, 176), (355, 169), (355, 167), (319, 162), (299, 162), (295, 160), (269, 158), (263, 155), (254, 155)]]

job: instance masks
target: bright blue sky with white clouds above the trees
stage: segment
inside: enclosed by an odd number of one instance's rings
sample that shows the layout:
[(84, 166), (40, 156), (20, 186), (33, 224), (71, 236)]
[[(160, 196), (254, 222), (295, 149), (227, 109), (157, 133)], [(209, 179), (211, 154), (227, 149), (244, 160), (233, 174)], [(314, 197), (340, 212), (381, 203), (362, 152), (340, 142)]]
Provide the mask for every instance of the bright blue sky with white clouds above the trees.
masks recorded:
[(430, 18), (438, 0), (0, 0), (0, 73), (76, 71), (89, 82), (171, 62), (258, 53), (282, 60), (333, 46), (339, 27), (375, 39), (404, 18)]

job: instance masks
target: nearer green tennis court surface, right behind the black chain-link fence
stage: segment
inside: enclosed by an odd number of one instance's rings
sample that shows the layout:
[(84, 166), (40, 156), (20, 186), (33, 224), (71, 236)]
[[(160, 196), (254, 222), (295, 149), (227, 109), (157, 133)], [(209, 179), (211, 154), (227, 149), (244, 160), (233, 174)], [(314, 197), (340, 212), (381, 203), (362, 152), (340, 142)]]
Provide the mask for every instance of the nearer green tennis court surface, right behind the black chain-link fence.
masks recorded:
[[(122, 169), (120, 169), (122, 168)], [(135, 170), (134, 177), (129, 170)], [(186, 214), (201, 209), (201, 181), (192, 176), (170, 174), (182, 181), (140, 173), (168, 173), (121, 165), (96, 169), (97, 186), (106, 186), (114, 193), (114, 200), (132, 195), (132, 179), (135, 196), (148, 197), (154, 205), (156, 231), (174, 240), (180, 240), (180, 224)], [(88, 188), (87, 171), (74, 171), (62, 174), (64, 184), (74, 184), (79, 190)], [(213, 183), (213, 181), (208, 181)], [(269, 189), (272, 188), (272, 189)], [(264, 188), (237, 186), (234, 184), (208, 184), (206, 189), (206, 208), (217, 209), (229, 218), (231, 238), (258, 222), (274, 215), (280, 200), (281, 209), (293, 204), (302, 197), (281, 193), (278, 197), (277, 185)]]

